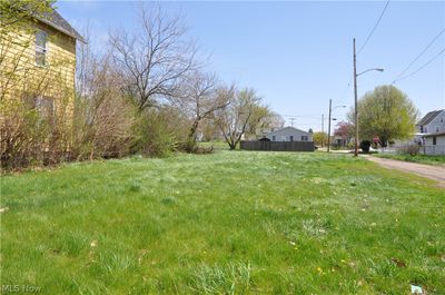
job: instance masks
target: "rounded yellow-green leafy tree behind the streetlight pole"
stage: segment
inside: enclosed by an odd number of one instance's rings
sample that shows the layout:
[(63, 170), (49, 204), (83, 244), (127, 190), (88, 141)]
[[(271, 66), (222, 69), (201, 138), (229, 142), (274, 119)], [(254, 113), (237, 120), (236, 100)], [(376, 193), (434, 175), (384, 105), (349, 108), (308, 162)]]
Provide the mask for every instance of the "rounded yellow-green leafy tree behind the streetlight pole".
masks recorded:
[[(382, 146), (392, 139), (406, 139), (415, 132), (418, 111), (406, 94), (394, 86), (379, 86), (358, 101), (360, 139), (378, 136)], [(354, 119), (349, 112), (349, 119)]]

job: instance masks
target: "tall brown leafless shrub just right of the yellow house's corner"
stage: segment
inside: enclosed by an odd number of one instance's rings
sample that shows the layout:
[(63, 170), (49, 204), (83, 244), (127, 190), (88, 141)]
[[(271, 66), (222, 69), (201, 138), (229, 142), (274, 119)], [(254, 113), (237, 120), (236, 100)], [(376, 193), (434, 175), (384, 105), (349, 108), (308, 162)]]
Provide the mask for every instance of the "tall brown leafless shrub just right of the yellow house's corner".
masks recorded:
[(127, 155), (136, 108), (120, 91), (120, 75), (108, 56), (85, 60), (85, 92), (77, 99), (75, 154), (78, 159)]

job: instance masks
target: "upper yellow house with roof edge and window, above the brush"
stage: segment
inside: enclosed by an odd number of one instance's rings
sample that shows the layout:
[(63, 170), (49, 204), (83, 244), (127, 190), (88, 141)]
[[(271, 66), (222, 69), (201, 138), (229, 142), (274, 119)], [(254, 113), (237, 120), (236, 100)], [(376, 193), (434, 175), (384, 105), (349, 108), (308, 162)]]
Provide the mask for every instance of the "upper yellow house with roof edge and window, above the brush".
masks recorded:
[(17, 23), (0, 31), (0, 99), (72, 115), (76, 42), (83, 38), (56, 10)]

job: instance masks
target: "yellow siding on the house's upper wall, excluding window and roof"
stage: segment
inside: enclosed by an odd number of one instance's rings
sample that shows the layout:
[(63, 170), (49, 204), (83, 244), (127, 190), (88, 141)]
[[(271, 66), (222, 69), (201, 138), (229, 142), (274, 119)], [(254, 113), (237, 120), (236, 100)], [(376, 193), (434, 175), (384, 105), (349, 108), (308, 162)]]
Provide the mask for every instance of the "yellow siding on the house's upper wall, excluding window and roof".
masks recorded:
[[(20, 30), (0, 39), (0, 91), (6, 99), (24, 95), (55, 100), (56, 109), (65, 105), (72, 114), (75, 98), (76, 39), (44, 23), (32, 23), (48, 35), (47, 66), (36, 65), (34, 32)], [(4, 102), (4, 101), (3, 101)], [(70, 116), (71, 117), (71, 116)]]

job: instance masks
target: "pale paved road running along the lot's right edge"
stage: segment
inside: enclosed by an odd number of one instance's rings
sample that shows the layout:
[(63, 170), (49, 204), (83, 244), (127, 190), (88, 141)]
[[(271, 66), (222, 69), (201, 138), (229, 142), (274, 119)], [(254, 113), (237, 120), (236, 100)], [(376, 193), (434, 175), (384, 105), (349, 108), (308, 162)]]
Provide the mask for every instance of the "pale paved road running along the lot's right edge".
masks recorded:
[(364, 156), (370, 161), (377, 163), (388, 169), (397, 169), (400, 171), (413, 173), (433, 180), (436, 180), (439, 186), (445, 187), (445, 167), (424, 165), (417, 163), (393, 160), (385, 158), (377, 158), (373, 156)]

